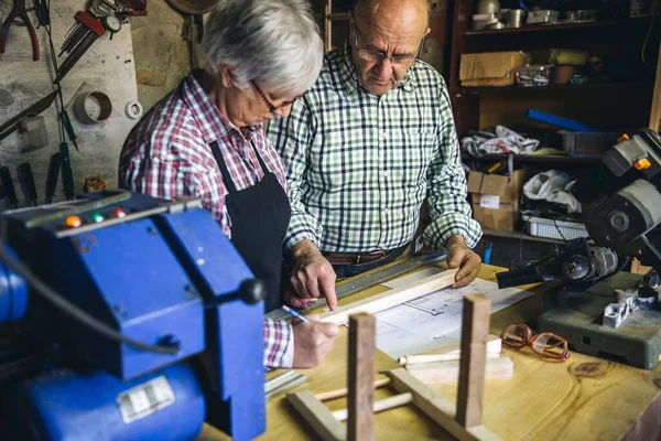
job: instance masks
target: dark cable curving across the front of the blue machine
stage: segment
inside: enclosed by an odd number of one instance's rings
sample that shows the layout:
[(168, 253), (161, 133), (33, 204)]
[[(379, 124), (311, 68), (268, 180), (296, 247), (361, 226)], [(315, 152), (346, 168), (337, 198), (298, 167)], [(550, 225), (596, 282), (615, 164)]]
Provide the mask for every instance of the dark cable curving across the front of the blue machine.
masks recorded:
[(0, 241), (0, 260), (2, 260), (13, 272), (22, 277), (28, 284), (30, 284), (34, 290), (45, 300), (51, 302), (54, 306), (59, 309), (62, 312), (71, 316), (72, 319), (78, 321), (85, 326), (89, 327), (97, 334), (112, 340), (119, 343), (126, 343), (129, 346), (132, 346), (137, 349), (154, 352), (156, 354), (176, 354), (180, 349), (178, 343), (173, 344), (172, 346), (164, 345), (151, 345), (147, 343), (139, 342), (131, 337), (127, 337), (126, 335), (120, 334), (115, 331), (106, 323), (101, 322), (94, 315), (88, 314), (86, 311), (82, 310), (74, 303), (66, 300), (64, 297), (55, 292), (55, 290), (48, 287), (43, 280), (36, 277), (30, 268), (15, 260), (8, 251), (7, 245)]

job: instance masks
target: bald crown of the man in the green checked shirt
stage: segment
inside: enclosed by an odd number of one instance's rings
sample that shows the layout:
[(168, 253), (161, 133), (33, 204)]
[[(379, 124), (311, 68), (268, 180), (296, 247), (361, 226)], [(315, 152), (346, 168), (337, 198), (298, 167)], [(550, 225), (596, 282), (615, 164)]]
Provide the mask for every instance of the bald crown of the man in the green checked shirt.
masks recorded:
[(429, 22), (429, 4), (427, 0), (359, 0), (354, 17), (366, 25), (423, 35)]

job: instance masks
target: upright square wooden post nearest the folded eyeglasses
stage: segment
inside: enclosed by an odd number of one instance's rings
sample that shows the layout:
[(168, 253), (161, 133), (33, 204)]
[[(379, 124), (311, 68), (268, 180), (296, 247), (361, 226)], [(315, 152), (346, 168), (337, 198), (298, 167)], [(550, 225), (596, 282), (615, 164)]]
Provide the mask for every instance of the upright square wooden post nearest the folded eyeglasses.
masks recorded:
[(486, 295), (464, 297), (456, 419), (465, 428), (481, 423), (490, 313)]

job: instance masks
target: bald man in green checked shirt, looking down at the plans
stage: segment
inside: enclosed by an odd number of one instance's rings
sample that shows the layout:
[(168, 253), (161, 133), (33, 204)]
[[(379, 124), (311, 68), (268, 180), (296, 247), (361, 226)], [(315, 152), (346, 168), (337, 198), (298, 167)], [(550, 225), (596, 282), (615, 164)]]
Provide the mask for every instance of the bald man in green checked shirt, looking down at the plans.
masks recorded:
[(326, 54), (291, 116), (269, 127), (288, 168), (294, 306), (325, 297), (333, 309), (336, 277), (399, 258), (425, 198), (424, 245), (447, 251), (456, 287), (477, 276), (481, 229), (466, 201), (447, 87), (418, 60), (427, 13), (426, 0), (360, 0), (349, 42)]

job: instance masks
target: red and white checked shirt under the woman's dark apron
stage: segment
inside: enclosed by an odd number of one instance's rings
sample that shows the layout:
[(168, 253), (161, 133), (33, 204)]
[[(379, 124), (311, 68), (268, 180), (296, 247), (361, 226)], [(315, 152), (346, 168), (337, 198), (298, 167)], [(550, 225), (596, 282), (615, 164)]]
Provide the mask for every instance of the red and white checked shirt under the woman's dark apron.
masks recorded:
[[(238, 130), (220, 114), (197, 82), (199, 73), (184, 78), (131, 130), (119, 159), (119, 185), (166, 200), (201, 198), (231, 237), (228, 191), (209, 143), (218, 142), (237, 190), (264, 178), (256, 149), (286, 192), (284, 166), (261, 127)], [(288, 322), (264, 319), (264, 366), (291, 366), (293, 334)]]

